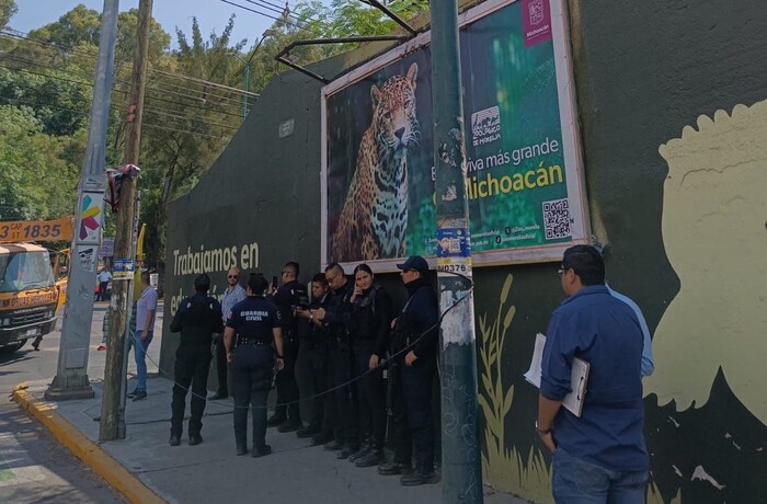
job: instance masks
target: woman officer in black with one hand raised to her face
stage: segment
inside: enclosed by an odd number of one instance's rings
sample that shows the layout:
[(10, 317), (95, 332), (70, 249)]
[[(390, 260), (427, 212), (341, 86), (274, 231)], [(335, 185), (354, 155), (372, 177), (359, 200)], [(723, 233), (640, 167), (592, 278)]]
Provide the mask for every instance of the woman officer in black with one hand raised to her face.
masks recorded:
[(380, 284), (374, 282), (373, 271), (367, 264), (354, 268), (354, 291), (350, 303), (354, 376), (370, 370), (357, 381), (363, 446), (350, 456), (350, 460), (357, 467), (371, 467), (384, 462), (386, 385), (379, 364), (389, 347), (392, 308), (391, 298)]

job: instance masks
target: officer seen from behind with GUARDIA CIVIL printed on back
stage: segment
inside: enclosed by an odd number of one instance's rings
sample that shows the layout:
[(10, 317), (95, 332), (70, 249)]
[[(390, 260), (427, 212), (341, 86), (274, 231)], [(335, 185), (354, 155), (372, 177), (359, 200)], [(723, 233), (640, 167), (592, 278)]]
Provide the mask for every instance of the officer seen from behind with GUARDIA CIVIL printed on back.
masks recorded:
[[(285, 365), (279, 310), (264, 296), (268, 283), (261, 273), (248, 276), (248, 297), (234, 305), (227, 320), (224, 344), (231, 364), (234, 392), (237, 455), (248, 453), (248, 410), (253, 408), (253, 457), (272, 453), (266, 444), (266, 398), (275, 368)], [(234, 341), (237, 336), (237, 342)]]

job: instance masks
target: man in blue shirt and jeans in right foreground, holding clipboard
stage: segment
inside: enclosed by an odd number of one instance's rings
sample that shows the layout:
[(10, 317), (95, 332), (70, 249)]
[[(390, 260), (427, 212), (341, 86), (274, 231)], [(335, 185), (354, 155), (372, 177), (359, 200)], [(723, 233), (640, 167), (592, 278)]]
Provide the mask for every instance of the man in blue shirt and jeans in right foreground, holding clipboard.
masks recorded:
[[(569, 297), (549, 323), (536, 423), (552, 451), (554, 501), (642, 504), (649, 460), (639, 320), (608, 291), (605, 264), (593, 247), (568, 249), (559, 274)], [(574, 357), (591, 366), (580, 417), (561, 408)]]

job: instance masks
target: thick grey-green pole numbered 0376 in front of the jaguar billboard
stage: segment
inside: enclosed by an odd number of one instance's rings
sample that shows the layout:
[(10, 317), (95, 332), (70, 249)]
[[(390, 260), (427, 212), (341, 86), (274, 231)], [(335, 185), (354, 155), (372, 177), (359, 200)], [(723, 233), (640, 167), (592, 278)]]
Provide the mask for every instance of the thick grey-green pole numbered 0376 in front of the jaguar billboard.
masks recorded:
[[(481, 503), (477, 345), (471, 295), (471, 245), (466, 196), (466, 144), (457, 0), (432, 0), (432, 101), (436, 168), (437, 257), (443, 319), (443, 502)], [(462, 276), (451, 275), (458, 273)]]

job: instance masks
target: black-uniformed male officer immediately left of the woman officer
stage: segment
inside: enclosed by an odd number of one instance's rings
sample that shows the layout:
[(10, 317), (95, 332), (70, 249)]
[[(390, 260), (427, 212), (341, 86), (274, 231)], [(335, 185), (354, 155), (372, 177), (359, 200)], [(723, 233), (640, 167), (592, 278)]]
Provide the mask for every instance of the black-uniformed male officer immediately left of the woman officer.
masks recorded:
[(359, 450), (358, 415), (352, 402), (352, 389), (350, 386), (341, 387), (352, 378), (352, 346), (346, 324), (350, 320), (350, 299), (354, 284), (348, 282), (343, 267), (337, 263), (325, 267), (325, 279), (331, 288), (331, 296), (328, 299), (328, 306), (316, 310), (314, 317), (328, 329), (329, 386), (334, 388), (340, 431), (339, 438), (325, 445), (325, 449), (340, 450), (337, 458), (344, 459)]

